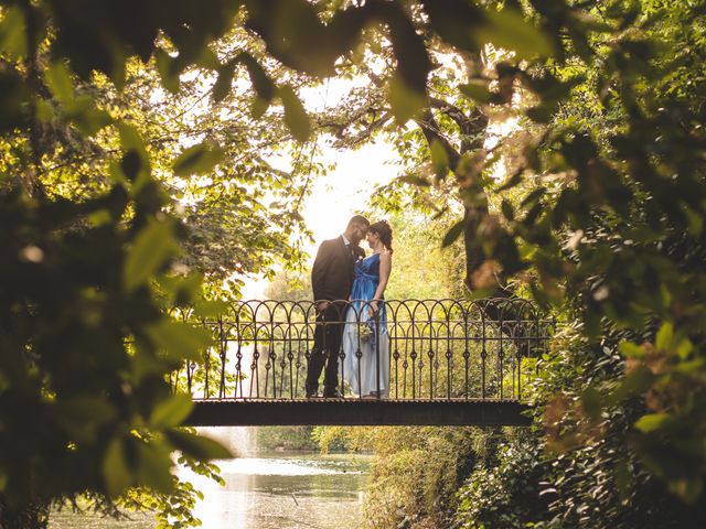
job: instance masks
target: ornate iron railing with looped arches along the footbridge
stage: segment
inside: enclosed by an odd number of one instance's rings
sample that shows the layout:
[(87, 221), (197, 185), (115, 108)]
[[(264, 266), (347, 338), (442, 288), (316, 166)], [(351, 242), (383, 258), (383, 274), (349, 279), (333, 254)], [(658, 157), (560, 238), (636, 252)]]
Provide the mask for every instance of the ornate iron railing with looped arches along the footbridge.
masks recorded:
[[(215, 345), (172, 376), (173, 389), (197, 401), (302, 399), (317, 326), (339, 325), (354, 338), (353, 349), (336, 352), (344, 399), (363, 398), (345, 381), (345, 367), (360, 370), (368, 354), (377, 387), (386, 387), (378, 399), (521, 400), (556, 326), (522, 299), (389, 300), (374, 316), (364, 302), (341, 301), (333, 310), (336, 316), (322, 323), (312, 301), (235, 303), (200, 322)], [(378, 339), (366, 347), (372, 332)], [(346, 363), (346, 354), (359, 361)], [(361, 373), (351, 376), (360, 380)]]

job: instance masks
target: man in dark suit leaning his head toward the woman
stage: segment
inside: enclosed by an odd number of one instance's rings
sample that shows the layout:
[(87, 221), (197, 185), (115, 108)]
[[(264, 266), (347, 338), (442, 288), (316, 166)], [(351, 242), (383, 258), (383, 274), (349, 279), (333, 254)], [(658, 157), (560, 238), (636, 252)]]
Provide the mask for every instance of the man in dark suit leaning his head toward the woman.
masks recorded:
[(317, 328), (307, 370), (307, 397), (317, 397), (319, 376), (325, 364), (323, 396), (340, 397), (339, 353), (345, 320), (345, 301), (353, 285), (353, 266), (365, 257), (359, 242), (371, 223), (355, 215), (345, 231), (319, 247), (311, 270), (313, 299), (317, 301)]

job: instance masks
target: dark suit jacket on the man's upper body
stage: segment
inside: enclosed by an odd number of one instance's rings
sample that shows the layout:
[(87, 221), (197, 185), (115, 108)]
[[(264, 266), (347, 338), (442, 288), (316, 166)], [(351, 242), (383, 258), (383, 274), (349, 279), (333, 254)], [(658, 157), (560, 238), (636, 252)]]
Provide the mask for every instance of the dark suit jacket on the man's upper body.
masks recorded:
[(347, 300), (353, 287), (353, 266), (365, 251), (360, 246), (345, 246), (343, 237), (321, 242), (311, 270), (313, 299)]

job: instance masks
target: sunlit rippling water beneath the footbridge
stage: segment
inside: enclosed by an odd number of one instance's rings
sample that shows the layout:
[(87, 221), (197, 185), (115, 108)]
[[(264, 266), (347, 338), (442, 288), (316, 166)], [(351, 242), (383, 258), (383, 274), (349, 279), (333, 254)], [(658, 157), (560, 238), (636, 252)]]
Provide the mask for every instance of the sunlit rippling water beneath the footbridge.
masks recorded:
[[(181, 469), (204, 493), (195, 515), (206, 529), (349, 529), (362, 521), (368, 457), (252, 450), (245, 429), (204, 429), (237, 450), (240, 457), (215, 462), (225, 487)], [(153, 529), (147, 515), (110, 520), (68, 511), (52, 515), (52, 529)]]

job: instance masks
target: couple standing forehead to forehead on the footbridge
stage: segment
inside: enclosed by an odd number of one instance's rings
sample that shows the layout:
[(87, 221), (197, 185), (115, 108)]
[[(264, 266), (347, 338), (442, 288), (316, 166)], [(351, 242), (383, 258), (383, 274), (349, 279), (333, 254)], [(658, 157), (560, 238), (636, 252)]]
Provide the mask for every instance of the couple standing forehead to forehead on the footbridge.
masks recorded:
[[(360, 247), (364, 238), (373, 251), (368, 257)], [(307, 397), (318, 396), (322, 370), (323, 397), (341, 397), (339, 374), (361, 397), (389, 395), (384, 293), (392, 270), (392, 241), (393, 231), (386, 220), (370, 224), (362, 215), (355, 215), (341, 236), (324, 240), (319, 247), (311, 271), (317, 326), (307, 371)]]

